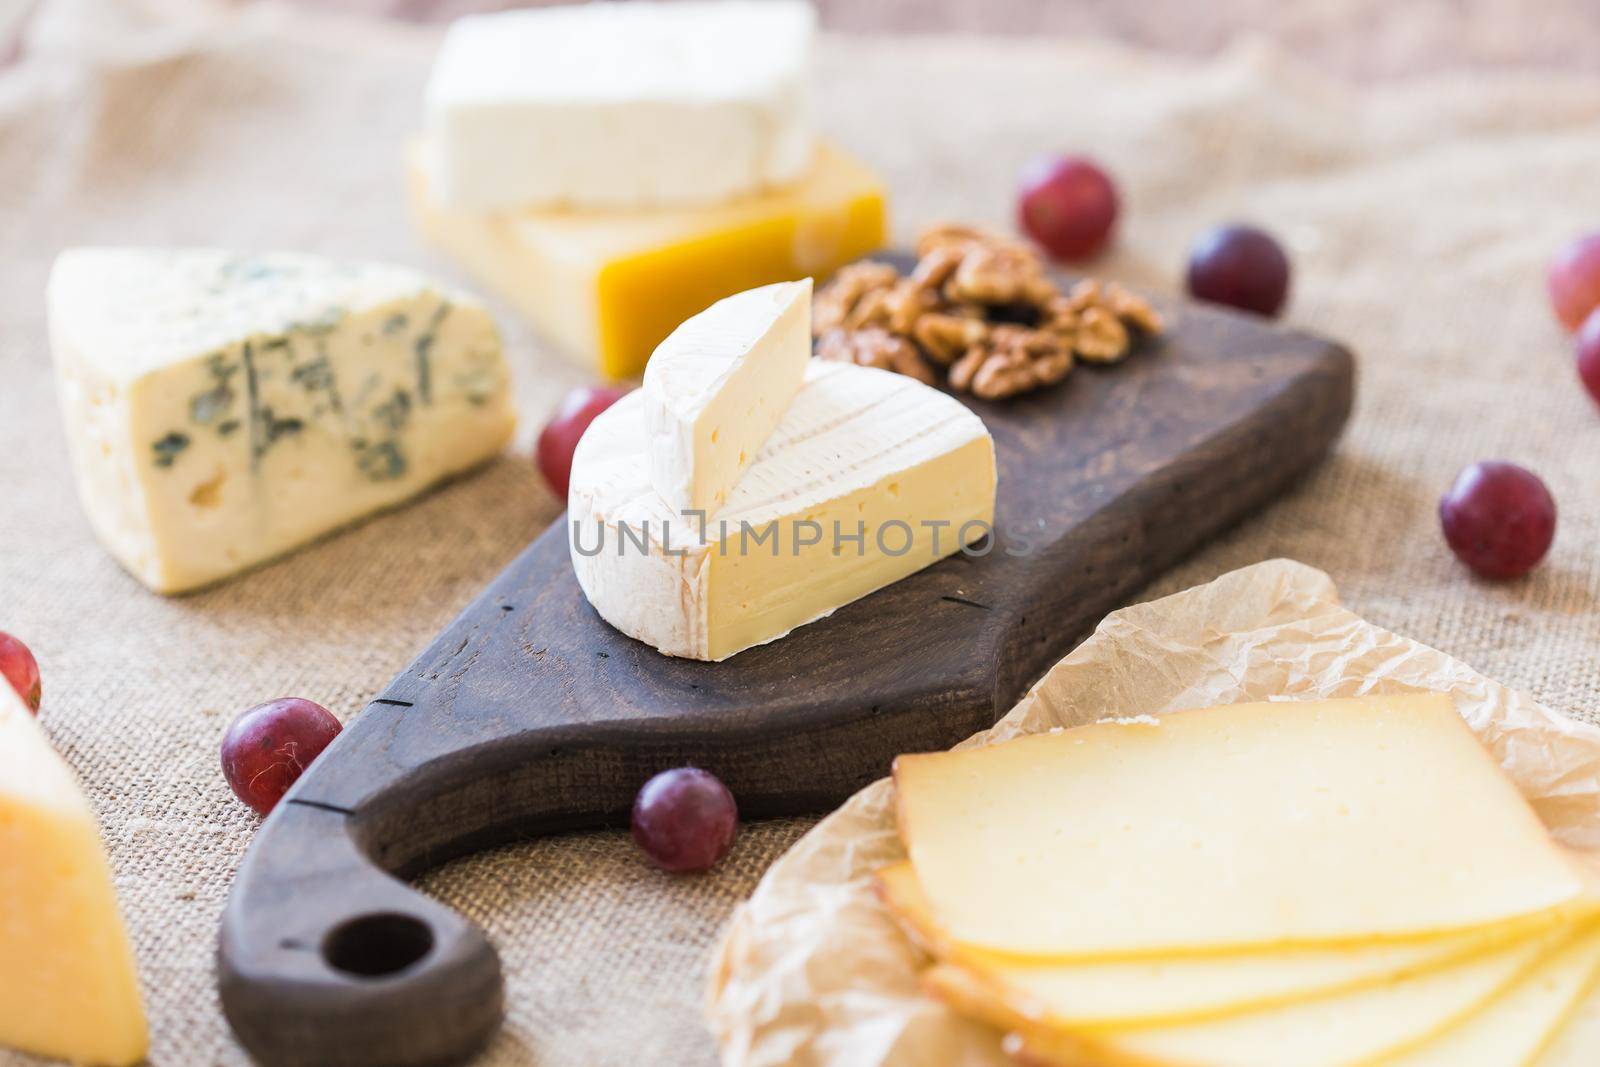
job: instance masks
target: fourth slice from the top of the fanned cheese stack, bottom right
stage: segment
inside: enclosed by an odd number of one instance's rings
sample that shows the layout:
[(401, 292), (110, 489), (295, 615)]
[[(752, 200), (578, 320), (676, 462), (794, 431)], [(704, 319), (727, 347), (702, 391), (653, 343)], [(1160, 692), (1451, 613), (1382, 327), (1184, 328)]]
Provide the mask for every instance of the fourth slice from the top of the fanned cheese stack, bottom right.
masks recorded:
[[(1483, 1011), (1384, 1067), (1530, 1067), (1578, 1006), (1600, 969), (1590, 928)], [(1600, 1048), (1590, 1049), (1600, 1062)]]

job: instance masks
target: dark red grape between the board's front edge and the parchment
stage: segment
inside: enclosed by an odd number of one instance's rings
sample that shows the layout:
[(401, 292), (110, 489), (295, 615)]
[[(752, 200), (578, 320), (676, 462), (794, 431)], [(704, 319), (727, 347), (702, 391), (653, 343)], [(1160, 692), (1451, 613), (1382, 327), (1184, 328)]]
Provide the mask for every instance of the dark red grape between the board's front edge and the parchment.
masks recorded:
[(634, 843), (662, 870), (707, 870), (738, 833), (733, 793), (698, 766), (662, 771), (634, 798)]

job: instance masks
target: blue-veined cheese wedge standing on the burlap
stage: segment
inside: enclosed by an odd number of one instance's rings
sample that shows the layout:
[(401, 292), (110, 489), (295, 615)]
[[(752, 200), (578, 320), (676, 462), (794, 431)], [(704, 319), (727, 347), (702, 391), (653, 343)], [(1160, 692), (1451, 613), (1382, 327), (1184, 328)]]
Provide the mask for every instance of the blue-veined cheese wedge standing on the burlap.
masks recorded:
[(398, 504), (512, 432), (488, 312), (402, 267), (82, 248), (48, 304), (78, 496), (157, 592)]

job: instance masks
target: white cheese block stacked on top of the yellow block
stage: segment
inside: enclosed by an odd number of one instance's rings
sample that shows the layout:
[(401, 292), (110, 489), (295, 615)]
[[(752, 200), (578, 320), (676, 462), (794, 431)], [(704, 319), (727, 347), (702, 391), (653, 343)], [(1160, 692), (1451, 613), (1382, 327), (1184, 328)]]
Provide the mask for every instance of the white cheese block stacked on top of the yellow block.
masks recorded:
[(456, 19), (426, 91), (440, 200), (472, 211), (718, 203), (814, 150), (802, 0), (589, 3)]

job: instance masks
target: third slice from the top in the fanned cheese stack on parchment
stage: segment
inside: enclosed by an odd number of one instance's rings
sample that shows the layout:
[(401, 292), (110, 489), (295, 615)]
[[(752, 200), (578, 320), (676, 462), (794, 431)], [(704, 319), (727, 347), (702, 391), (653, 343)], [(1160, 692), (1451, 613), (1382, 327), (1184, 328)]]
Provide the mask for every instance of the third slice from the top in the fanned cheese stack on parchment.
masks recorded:
[[(1070, 1032), (1018, 1013), (957, 968), (936, 966), (928, 989), (963, 1014), (1010, 1030), (1024, 1062), (1050, 1067), (1368, 1067), (1387, 1062), (1474, 1016), (1533, 974), (1571, 928), (1397, 982), (1226, 1019)], [(1506, 1065), (1510, 1067), (1510, 1065)]]

